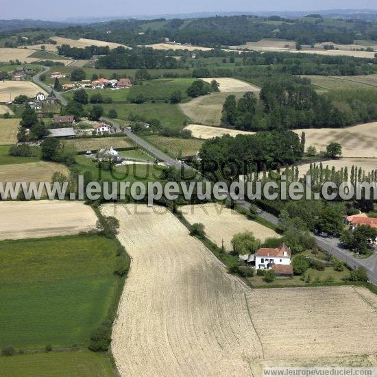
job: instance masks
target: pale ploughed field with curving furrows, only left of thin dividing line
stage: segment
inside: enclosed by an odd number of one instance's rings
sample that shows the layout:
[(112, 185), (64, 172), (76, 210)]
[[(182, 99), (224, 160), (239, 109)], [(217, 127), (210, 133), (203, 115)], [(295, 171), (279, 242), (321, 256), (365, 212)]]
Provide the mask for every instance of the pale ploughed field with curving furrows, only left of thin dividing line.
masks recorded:
[(241, 280), (166, 208), (101, 212), (132, 258), (112, 331), (121, 376), (250, 376), (262, 348)]

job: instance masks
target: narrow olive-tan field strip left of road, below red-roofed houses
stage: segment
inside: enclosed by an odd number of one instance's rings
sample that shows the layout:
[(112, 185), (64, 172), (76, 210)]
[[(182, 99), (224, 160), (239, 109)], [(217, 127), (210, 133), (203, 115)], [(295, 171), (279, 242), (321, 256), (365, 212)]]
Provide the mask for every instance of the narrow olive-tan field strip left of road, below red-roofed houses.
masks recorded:
[(77, 151), (90, 151), (106, 148), (128, 148), (133, 147), (132, 141), (125, 137), (101, 137), (101, 138), (75, 138), (64, 141), (65, 145), (73, 146)]

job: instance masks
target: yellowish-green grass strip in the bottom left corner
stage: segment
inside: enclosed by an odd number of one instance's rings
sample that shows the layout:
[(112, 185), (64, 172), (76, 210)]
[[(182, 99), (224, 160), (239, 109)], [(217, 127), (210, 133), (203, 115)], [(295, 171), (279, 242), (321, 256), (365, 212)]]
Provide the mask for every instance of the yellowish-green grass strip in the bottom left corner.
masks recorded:
[(50, 352), (0, 357), (2, 376), (110, 377), (110, 361), (90, 351)]

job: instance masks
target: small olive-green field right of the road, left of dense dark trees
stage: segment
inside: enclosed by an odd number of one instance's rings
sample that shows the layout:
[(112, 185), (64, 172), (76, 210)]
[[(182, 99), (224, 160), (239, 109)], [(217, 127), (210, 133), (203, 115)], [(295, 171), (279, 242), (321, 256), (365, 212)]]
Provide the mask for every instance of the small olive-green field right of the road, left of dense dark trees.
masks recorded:
[(203, 141), (196, 138), (176, 138), (160, 135), (144, 136), (145, 140), (173, 157), (195, 156)]

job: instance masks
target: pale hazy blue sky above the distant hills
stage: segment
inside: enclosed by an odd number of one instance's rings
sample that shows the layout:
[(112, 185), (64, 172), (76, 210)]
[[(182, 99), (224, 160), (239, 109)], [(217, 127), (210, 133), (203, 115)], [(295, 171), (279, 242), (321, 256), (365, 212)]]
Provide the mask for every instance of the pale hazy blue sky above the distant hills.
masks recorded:
[[(54, 4), (55, 3), (55, 4)], [(17, 0), (1, 5), (0, 19), (62, 20), (68, 17), (151, 16), (197, 12), (377, 9), (377, 0)]]

